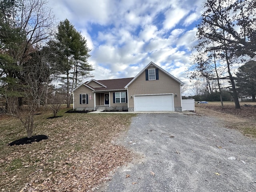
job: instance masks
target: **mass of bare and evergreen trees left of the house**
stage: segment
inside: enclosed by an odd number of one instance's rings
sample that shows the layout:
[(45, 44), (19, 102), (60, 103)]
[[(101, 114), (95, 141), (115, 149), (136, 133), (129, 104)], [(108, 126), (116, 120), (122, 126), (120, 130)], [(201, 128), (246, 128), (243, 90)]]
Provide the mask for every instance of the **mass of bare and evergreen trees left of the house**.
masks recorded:
[(80, 32), (67, 19), (55, 26), (46, 0), (0, 0), (0, 110), (19, 118), (28, 138), (39, 107), (70, 107), (71, 91), (94, 70)]

